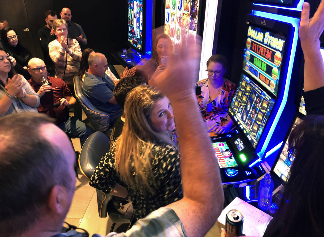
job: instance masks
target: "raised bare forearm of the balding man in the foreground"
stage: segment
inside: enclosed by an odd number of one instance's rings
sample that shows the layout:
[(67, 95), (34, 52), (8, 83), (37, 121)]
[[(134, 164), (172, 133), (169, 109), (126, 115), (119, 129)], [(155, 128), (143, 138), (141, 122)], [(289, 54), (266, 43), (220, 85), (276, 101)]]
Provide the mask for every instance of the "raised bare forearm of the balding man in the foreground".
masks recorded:
[[(170, 97), (179, 136), (184, 198), (198, 203), (204, 231), (214, 224), (223, 209), (224, 195), (219, 167), (194, 91), (186, 98)], [(180, 200), (181, 201), (181, 200)], [(173, 206), (174, 207), (174, 206)], [(172, 208), (173, 208), (172, 207)], [(194, 223), (192, 223), (194, 225)]]

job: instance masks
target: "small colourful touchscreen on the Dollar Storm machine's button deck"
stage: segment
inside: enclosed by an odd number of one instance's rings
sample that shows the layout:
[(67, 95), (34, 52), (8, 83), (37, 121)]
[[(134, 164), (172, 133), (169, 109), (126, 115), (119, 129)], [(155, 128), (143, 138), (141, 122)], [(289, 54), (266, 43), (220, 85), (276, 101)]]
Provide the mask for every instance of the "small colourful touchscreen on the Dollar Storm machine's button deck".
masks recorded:
[(215, 156), (220, 168), (237, 167), (236, 160), (225, 142), (213, 143)]

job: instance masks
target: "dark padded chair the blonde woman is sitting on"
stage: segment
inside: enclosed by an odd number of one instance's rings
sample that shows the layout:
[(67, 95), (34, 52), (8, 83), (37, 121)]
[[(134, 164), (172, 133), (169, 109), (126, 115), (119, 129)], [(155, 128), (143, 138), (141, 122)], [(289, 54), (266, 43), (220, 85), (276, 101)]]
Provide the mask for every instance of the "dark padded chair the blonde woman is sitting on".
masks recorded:
[[(100, 131), (91, 134), (87, 141), (82, 146), (79, 155), (79, 167), (81, 173), (87, 177), (91, 178), (95, 168), (98, 166), (101, 157), (104, 156), (109, 150), (109, 138)], [(110, 232), (116, 223), (129, 223), (131, 219), (125, 218), (110, 201), (113, 195), (106, 194), (101, 190), (96, 189), (97, 192), (97, 202), (98, 202), (98, 213), (100, 218), (108, 217), (113, 222)]]

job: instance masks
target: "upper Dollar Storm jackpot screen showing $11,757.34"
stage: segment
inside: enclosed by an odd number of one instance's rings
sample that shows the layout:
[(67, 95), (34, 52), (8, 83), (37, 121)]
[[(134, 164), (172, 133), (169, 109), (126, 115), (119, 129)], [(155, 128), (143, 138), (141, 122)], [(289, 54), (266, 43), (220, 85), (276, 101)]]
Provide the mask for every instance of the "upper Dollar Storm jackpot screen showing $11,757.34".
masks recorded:
[(276, 96), (285, 42), (283, 33), (248, 24), (243, 70)]

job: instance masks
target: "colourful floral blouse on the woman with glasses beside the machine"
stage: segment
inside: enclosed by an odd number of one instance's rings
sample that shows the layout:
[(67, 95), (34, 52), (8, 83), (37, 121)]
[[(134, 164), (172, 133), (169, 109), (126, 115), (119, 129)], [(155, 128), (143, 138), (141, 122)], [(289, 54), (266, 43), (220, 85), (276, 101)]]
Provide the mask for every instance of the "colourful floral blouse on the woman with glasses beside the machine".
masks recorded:
[[(207, 124), (208, 132), (210, 132), (215, 124), (222, 126), (230, 119), (230, 117), (227, 116), (227, 110), (233, 98), (236, 84), (224, 78), (224, 85), (212, 102), (209, 94), (208, 79), (198, 81), (196, 86), (199, 108)], [(211, 107), (208, 108), (210, 111), (207, 111), (207, 104), (209, 103), (211, 103)]]

